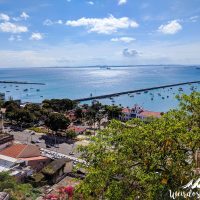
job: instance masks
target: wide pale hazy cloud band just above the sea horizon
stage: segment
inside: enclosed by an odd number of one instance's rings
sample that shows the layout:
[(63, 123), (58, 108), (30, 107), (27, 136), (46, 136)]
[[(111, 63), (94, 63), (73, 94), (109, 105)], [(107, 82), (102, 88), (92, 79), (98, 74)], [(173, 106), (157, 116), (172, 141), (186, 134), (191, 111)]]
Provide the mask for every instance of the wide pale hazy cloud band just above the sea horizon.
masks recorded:
[[(0, 67), (47, 67), (83, 65), (199, 64), (200, 43), (155, 42), (134, 44), (137, 56), (124, 56), (124, 44), (94, 41), (92, 43), (38, 44), (26, 50), (0, 49)], [(127, 50), (125, 51), (127, 52)], [(135, 54), (137, 54), (135, 52)], [(140, 53), (142, 52), (142, 53)], [(126, 54), (126, 53), (125, 53)], [(62, 62), (63, 61), (63, 62)]]

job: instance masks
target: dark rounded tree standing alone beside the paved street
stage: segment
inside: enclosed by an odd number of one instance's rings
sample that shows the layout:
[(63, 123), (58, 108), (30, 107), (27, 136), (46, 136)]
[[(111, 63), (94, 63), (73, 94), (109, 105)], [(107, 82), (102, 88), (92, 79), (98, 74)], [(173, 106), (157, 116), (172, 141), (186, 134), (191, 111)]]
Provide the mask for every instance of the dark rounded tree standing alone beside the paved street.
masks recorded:
[(67, 129), (70, 125), (70, 120), (60, 113), (51, 113), (45, 124), (52, 131), (57, 133), (58, 130)]

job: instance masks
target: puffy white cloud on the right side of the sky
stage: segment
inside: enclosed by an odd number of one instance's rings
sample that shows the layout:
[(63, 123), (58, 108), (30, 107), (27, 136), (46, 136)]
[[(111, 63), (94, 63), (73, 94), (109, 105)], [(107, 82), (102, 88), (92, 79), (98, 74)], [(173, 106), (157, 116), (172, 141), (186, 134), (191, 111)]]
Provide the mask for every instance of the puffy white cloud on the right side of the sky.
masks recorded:
[(158, 28), (158, 31), (163, 34), (176, 34), (182, 29), (181, 24), (177, 20), (173, 20), (168, 22), (167, 24), (163, 24)]

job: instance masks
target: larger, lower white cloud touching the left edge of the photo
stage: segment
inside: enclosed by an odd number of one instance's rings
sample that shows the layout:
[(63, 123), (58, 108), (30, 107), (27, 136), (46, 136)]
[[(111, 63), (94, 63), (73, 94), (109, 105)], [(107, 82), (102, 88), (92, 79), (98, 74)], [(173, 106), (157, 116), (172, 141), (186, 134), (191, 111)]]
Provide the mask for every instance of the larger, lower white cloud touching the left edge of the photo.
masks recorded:
[(28, 32), (28, 28), (11, 22), (3, 22), (0, 23), (0, 31), (6, 33), (25, 33)]

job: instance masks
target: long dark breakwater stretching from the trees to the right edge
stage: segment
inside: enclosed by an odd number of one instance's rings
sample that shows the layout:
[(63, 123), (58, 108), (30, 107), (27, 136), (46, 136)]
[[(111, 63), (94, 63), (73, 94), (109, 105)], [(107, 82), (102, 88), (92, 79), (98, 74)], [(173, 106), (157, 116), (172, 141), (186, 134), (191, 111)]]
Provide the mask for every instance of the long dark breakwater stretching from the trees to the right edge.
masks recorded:
[(83, 102), (83, 101), (90, 101), (90, 100), (96, 100), (96, 99), (106, 99), (106, 98), (120, 96), (120, 95), (124, 95), (124, 94), (129, 94), (129, 93), (145, 92), (145, 91), (151, 91), (151, 90), (169, 88), (169, 87), (175, 87), (175, 86), (181, 86), (181, 85), (188, 85), (188, 84), (194, 84), (194, 83), (200, 84), (200, 81), (175, 83), (175, 84), (170, 84), (170, 85), (161, 85), (161, 86), (157, 86), (157, 87), (150, 87), (150, 88), (144, 88), (144, 89), (129, 90), (129, 91), (125, 91), (125, 92), (117, 92), (117, 93), (112, 93), (112, 94), (91, 96), (91, 97), (86, 97), (86, 98), (74, 99), (74, 101)]

